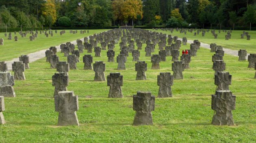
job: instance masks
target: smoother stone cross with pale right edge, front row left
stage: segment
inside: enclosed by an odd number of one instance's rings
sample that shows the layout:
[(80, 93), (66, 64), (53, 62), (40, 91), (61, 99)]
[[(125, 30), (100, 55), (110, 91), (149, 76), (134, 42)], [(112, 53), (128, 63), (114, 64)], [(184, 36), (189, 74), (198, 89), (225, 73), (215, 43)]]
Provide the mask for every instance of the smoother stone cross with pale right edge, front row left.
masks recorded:
[(60, 91), (54, 96), (55, 111), (59, 112), (58, 126), (79, 126), (76, 111), (78, 111), (78, 96), (73, 91)]

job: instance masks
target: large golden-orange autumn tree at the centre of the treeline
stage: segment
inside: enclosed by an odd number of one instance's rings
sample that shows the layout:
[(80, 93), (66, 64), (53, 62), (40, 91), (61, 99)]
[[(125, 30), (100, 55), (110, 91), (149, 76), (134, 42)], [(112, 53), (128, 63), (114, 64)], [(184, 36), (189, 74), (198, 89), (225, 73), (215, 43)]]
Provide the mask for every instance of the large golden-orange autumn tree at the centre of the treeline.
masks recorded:
[(126, 0), (124, 2), (123, 7), (121, 7), (122, 15), (124, 16), (124, 20), (133, 20), (137, 19), (137, 15), (141, 15), (143, 17), (142, 11), (142, 1), (141, 0)]

